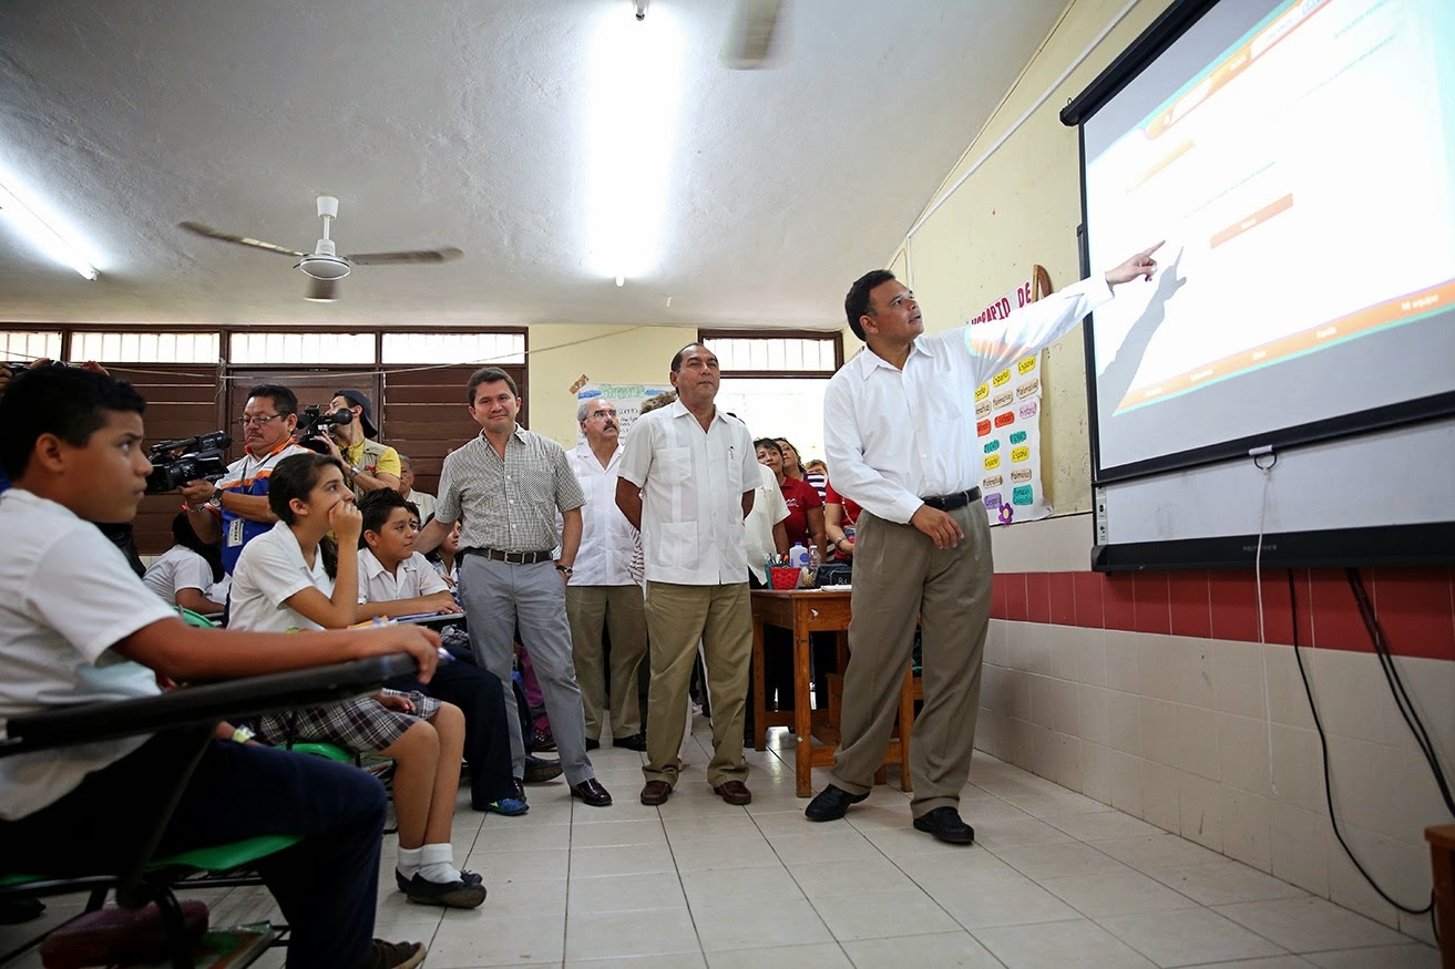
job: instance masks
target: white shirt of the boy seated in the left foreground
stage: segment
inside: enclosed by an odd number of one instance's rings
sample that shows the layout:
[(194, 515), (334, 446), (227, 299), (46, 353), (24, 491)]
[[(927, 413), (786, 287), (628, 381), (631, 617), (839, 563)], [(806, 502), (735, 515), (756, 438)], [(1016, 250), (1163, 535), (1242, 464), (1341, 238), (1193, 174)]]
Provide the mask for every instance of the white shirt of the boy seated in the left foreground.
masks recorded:
[[(156, 674), (112, 646), (176, 620), (89, 521), (22, 487), (0, 495), (0, 735), (13, 716), (160, 693)], [(146, 736), (0, 759), (0, 818), (60, 800)]]

